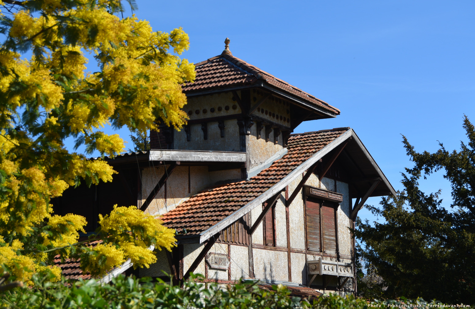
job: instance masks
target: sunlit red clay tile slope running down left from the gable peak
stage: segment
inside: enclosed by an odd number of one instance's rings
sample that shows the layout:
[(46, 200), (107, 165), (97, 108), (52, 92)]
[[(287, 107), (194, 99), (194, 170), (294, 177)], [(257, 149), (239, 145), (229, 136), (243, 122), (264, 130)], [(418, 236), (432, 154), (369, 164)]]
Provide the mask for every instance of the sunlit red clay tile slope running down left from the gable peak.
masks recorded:
[(179, 233), (196, 235), (225, 219), (290, 174), (324, 146), (350, 128), (292, 135), (288, 152), (249, 180), (228, 183), (190, 197), (161, 217), (164, 225)]

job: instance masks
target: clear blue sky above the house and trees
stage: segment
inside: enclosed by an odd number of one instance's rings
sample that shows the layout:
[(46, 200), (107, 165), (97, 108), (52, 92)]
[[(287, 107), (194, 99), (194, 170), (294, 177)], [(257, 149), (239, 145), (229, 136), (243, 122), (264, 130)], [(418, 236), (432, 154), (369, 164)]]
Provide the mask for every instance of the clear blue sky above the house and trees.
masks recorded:
[[(350, 126), (396, 190), (417, 151), (448, 150), (475, 122), (473, 1), (152, 1), (137, 0), (154, 30), (182, 27), (190, 62), (233, 55), (339, 108), (334, 119), (304, 122), (295, 133)], [(119, 131), (126, 138), (126, 131)], [(132, 148), (128, 144), (127, 148)], [(441, 174), (426, 192), (450, 187)], [(371, 203), (377, 204), (379, 198)], [(362, 211), (360, 217), (374, 216)]]

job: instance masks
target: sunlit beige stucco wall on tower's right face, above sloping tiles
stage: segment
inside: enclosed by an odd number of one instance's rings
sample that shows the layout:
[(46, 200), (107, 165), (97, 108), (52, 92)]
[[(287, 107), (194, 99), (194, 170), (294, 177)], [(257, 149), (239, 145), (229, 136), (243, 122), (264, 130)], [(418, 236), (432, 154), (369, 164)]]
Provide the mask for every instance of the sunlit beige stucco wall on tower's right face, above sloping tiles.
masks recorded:
[(252, 169), (260, 164), (266, 162), (266, 160), (279, 151), (284, 146), (282, 144), (282, 134), (278, 136), (277, 144), (274, 143), (274, 129), (269, 134), (269, 141), (266, 142), (266, 128), (261, 130), (261, 137), (257, 138), (257, 124), (251, 126), (251, 134), (247, 139), (247, 154), (249, 160), (249, 167), (247, 170)]

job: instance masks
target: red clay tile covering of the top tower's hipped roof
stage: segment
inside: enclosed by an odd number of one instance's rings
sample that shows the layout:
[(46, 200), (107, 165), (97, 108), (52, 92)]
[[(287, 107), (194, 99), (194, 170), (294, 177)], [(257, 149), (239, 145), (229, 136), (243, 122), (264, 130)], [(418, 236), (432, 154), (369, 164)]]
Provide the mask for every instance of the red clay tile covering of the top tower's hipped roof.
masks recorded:
[(279, 79), (247, 62), (231, 55), (220, 55), (197, 63), (196, 79), (194, 83), (186, 83), (182, 86), (183, 92), (192, 93), (210, 89), (220, 89), (227, 87), (252, 86), (258, 81), (263, 81), (270, 86), (274, 86), (285, 92), (304, 99), (314, 106), (319, 106), (324, 110), (340, 114), (340, 110), (316, 97), (289, 85)]

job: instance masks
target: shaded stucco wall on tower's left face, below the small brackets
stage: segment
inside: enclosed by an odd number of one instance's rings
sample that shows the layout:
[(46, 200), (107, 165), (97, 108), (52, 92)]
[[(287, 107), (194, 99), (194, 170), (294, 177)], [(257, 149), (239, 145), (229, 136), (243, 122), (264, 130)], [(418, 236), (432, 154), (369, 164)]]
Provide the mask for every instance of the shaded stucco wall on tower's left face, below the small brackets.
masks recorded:
[(190, 142), (187, 141), (184, 129), (181, 129), (180, 132), (175, 131), (173, 148), (179, 150), (240, 151), (237, 120), (225, 120), (224, 126), (224, 137), (221, 137), (218, 122), (208, 122), (208, 138), (205, 140), (201, 124), (190, 125)]

